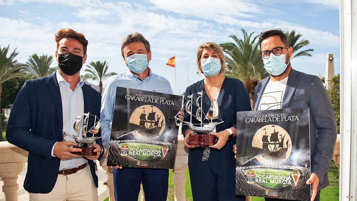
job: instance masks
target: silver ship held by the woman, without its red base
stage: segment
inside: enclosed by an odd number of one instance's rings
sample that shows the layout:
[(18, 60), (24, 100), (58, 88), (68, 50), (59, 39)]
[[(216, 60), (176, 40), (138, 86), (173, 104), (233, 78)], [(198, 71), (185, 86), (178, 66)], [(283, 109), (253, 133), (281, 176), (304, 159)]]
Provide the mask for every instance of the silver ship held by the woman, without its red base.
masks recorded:
[[(181, 122), (182, 125), (187, 125), (188, 128), (190, 128), (191, 131), (194, 132), (194, 134), (197, 134), (197, 132), (208, 134), (212, 132), (218, 124), (223, 123), (222, 119), (219, 118), (220, 111), (218, 108), (218, 102), (216, 99), (212, 98), (212, 95), (211, 95), (211, 100), (212, 100), (211, 106), (204, 114), (202, 108), (203, 93), (207, 94), (206, 92), (203, 91), (195, 93), (198, 94), (198, 97), (196, 98), (195, 102), (193, 102), (193, 95), (195, 94), (187, 95), (188, 100), (184, 103), (184, 108), (182, 108), (175, 116), (177, 126), (179, 126)], [(193, 107), (197, 108), (195, 114), (192, 114)], [(180, 114), (183, 111), (186, 111), (185, 115), (182, 118), (178, 118), (177, 117), (178, 114)], [(190, 121), (189, 122), (184, 121), (183, 119), (188, 116), (190, 116)], [(192, 123), (192, 118), (196, 118), (197, 121), (199, 121), (200, 123), (196, 123), (196, 124)], [(214, 119), (219, 119), (220, 122), (213, 122), (212, 120)], [(208, 121), (204, 122), (204, 120), (208, 120)]]

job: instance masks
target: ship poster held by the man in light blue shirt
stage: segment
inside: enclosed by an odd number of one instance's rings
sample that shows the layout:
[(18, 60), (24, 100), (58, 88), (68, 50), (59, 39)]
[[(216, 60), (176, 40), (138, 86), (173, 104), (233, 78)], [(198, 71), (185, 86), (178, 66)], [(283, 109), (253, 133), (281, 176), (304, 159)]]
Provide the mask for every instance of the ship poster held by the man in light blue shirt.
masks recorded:
[(182, 96), (117, 87), (108, 166), (174, 167)]

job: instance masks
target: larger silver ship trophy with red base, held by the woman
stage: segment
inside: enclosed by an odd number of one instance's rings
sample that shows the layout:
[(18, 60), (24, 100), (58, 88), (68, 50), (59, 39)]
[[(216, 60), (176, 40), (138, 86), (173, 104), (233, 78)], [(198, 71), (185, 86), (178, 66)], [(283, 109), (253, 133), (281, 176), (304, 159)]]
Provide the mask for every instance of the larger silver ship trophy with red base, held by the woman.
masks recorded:
[[(196, 101), (193, 102), (193, 95), (195, 94), (198, 94), (199, 96), (196, 98)], [(183, 108), (175, 116), (176, 125), (187, 125), (188, 128), (193, 131), (193, 134), (190, 135), (190, 142), (188, 143), (190, 145), (210, 146), (216, 144), (216, 136), (211, 135), (210, 132), (213, 132), (218, 124), (223, 123), (222, 119), (219, 118), (220, 110), (218, 108), (218, 102), (213, 99), (211, 95), (211, 106), (204, 112), (202, 108), (202, 95), (207, 93), (201, 91), (195, 94), (187, 95), (188, 100), (183, 104)], [(196, 114), (192, 114), (193, 107), (197, 108)], [(186, 112), (183, 117), (178, 118), (178, 114), (184, 111)], [(203, 119), (202, 115), (204, 115)], [(188, 116), (190, 116), (190, 122), (184, 121), (183, 119)], [(192, 117), (196, 118), (200, 123), (192, 123)], [(219, 119), (220, 122), (213, 122), (213, 119)]]

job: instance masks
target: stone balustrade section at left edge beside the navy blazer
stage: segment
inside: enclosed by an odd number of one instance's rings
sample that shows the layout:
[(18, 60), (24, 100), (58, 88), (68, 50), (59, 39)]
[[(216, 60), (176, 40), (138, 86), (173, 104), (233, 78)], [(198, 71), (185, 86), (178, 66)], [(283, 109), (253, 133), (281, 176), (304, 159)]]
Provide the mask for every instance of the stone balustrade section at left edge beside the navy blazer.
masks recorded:
[(17, 201), (17, 178), (25, 167), (28, 152), (9, 142), (0, 142), (0, 153), (0, 177), (4, 181), (2, 192), (5, 194), (5, 201)]

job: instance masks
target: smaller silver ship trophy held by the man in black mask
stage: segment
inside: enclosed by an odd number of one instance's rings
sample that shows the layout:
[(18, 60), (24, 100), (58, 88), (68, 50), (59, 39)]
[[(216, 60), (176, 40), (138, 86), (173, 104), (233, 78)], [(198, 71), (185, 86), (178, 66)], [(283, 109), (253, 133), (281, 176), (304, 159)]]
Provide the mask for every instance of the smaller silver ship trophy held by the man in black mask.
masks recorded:
[[(73, 124), (73, 128), (75, 131), (77, 131), (77, 135), (74, 136), (70, 134), (69, 132), (66, 132), (65, 130), (63, 131), (63, 139), (65, 139), (65, 135), (69, 135), (74, 138), (74, 140), (77, 142), (77, 146), (73, 146), (73, 148), (80, 148), (82, 151), (80, 152), (71, 152), (76, 155), (85, 155), (85, 156), (94, 156), (97, 155), (96, 152), (94, 152), (95, 147), (92, 145), (96, 143), (96, 140), (102, 137), (94, 137), (94, 134), (99, 133), (100, 131), (100, 119), (97, 118), (97, 116), (84, 113), (81, 115), (76, 115), (76, 120)], [(91, 128), (88, 128), (89, 126), (89, 119), (90, 117), (94, 117), (94, 124)], [(92, 137), (87, 137), (87, 133), (91, 133)], [(80, 134), (82, 134), (82, 138), (80, 138)]]

